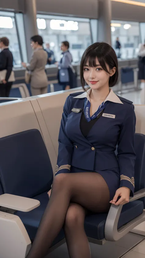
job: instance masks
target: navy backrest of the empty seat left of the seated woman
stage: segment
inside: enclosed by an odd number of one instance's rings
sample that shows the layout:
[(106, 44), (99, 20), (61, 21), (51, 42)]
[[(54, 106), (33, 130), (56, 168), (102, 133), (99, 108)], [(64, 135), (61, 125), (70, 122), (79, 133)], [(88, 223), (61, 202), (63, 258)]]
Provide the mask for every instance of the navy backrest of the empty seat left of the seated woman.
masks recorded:
[(50, 189), (52, 181), (52, 166), (39, 130), (0, 138), (3, 193), (31, 198)]

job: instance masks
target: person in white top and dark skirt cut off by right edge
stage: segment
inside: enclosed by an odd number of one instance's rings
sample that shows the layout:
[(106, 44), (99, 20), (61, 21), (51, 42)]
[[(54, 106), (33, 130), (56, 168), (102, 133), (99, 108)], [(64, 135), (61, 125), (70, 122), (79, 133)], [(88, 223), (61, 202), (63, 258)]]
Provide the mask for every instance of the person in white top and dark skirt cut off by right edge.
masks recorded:
[(145, 88), (145, 43), (139, 45), (139, 74), (138, 78), (141, 80), (141, 88)]

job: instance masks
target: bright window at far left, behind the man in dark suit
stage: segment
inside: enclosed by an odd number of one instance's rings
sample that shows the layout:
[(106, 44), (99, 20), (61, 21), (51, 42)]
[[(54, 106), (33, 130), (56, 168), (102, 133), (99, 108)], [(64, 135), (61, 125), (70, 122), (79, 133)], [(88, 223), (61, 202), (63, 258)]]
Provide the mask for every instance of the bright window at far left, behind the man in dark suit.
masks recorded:
[(13, 53), (14, 65), (21, 64), (14, 13), (0, 11), (0, 38), (2, 37), (9, 39), (9, 49)]

